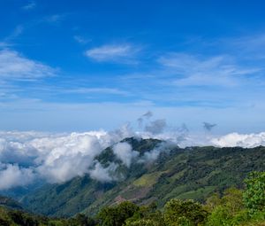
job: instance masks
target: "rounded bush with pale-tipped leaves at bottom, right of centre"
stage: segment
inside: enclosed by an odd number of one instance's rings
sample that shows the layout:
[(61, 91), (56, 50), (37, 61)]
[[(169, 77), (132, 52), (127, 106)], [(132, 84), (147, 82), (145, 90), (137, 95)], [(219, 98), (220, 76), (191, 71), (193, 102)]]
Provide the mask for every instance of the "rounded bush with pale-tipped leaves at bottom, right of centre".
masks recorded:
[(194, 200), (171, 199), (164, 207), (166, 225), (201, 225), (207, 214)]

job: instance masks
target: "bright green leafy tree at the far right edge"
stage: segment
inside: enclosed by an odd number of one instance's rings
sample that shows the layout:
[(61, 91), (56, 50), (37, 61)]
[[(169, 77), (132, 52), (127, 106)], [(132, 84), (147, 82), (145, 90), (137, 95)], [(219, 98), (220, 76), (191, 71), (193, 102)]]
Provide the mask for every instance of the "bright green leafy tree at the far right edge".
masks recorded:
[(251, 214), (265, 211), (265, 172), (252, 172), (245, 180), (244, 203)]

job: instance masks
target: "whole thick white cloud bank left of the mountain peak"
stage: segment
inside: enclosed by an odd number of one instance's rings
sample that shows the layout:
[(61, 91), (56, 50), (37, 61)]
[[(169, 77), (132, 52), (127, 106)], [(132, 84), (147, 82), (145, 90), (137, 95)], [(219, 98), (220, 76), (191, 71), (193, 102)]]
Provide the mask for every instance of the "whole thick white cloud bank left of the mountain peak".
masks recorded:
[(91, 173), (93, 178), (99, 175), (101, 181), (103, 172), (114, 167), (97, 172), (100, 166), (95, 156), (126, 136), (132, 136), (130, 133), (126, 127), (112, 132), (71, 134), (1, 132), (0, 190), (27, 185), (34, 177), (49, 183), (63, 183), (74, 176)]

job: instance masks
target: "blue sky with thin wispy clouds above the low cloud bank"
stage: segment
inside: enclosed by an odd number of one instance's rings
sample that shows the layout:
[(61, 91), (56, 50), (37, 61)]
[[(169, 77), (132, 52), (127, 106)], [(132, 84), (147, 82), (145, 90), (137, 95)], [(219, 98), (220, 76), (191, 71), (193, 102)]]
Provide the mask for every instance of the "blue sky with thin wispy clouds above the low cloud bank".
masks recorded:
[[(0, 130), (261, 132), (263, 1), (0, 2)], [(133, 124), (135, 126), (135, 123)]]

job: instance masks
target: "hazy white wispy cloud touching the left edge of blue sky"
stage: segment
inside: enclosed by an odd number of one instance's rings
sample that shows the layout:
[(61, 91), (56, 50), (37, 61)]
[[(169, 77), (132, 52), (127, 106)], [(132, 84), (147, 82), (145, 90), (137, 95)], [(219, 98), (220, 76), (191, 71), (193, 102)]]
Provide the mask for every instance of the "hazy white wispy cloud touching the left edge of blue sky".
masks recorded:
[(54, 68), (26, 58), (17, 51), (0, 51), (0, 78), (2, 79), (35, 80), (52, 76), (55, 72)]

